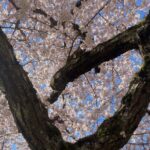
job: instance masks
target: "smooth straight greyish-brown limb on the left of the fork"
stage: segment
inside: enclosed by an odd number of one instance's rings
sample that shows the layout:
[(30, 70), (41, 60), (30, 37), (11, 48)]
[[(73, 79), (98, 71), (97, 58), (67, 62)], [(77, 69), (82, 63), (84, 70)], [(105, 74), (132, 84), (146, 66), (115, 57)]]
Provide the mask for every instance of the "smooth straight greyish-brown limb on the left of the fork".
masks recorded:
[(11, 112), (32, 150), (59, 149), (64, 142), (48, 118), (27, 73), (22, 69), (6, 36), (0, 29), (0, 81), (5, 88)]

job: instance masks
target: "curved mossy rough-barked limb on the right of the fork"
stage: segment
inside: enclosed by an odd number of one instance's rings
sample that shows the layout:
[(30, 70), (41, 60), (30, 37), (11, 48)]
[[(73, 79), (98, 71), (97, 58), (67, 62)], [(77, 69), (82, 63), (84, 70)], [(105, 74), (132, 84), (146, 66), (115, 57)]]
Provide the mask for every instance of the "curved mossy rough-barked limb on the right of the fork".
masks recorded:
[[(149, 21), (150, 24), (150, 21)], [(147, 113), (150, 102), (150, 26), (144, 32), (138, 30), (139, 44), (144, 57), (144, 65), (130, 83), (127, 94), (114, 116), (106, 119), (97, 132), (80, 139), (76, 145), (94, 150), (119, 150), (133, 135), (142, 117)]]

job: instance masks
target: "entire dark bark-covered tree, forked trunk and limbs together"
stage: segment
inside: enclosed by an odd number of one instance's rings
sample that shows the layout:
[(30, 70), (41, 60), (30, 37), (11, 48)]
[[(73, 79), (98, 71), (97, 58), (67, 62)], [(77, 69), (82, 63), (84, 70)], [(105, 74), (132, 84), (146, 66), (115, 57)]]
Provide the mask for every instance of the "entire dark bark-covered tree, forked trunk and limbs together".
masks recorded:
[(144, 65), (130, 83), (119, 110), (113, 117), (106, 119), (96, 133), (75, 144), (62, 140), (61, 133), (52, 124), (44, 105), (37, 98), (27, 73), (16, 61), (12, 46), (0, 30), (0, 80), (17, 127), (32, 150), (118, 150), (128, 142), (150, 102), (149, 17), (139, 25), (100, 44), (92, 52), (86, 52), (79, 55), (80, 57), (77, 53), (73, 54), (66, 66), (54, 76), (52, 86), (60, 92), (69, 81), (97, 64), (132, 48), (140, 47), (143, 53)]

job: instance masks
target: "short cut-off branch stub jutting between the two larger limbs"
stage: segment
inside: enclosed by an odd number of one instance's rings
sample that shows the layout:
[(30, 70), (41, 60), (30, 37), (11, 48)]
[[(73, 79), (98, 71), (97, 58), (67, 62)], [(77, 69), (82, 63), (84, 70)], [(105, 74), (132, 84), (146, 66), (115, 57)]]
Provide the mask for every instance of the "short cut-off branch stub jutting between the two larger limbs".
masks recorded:
[(92, 51), (84, 52), (79, 50), (74, 52), (64, 67), (53, 76), (50, 86), (54, 91), (48, 101), (54, 103), (67, 83), (73, 81), (83, 73), (90, 71), (105, 61), (120, 56), (128, 50), (137, 49), (137, 31), (143, 26), (148, 26), (147, 28), (143, 28), (143, 32), (146, 33), (149, 28), (149, 23), (145, 19), (145, 21), (129, 28), (114, 38), (98, 44)]

